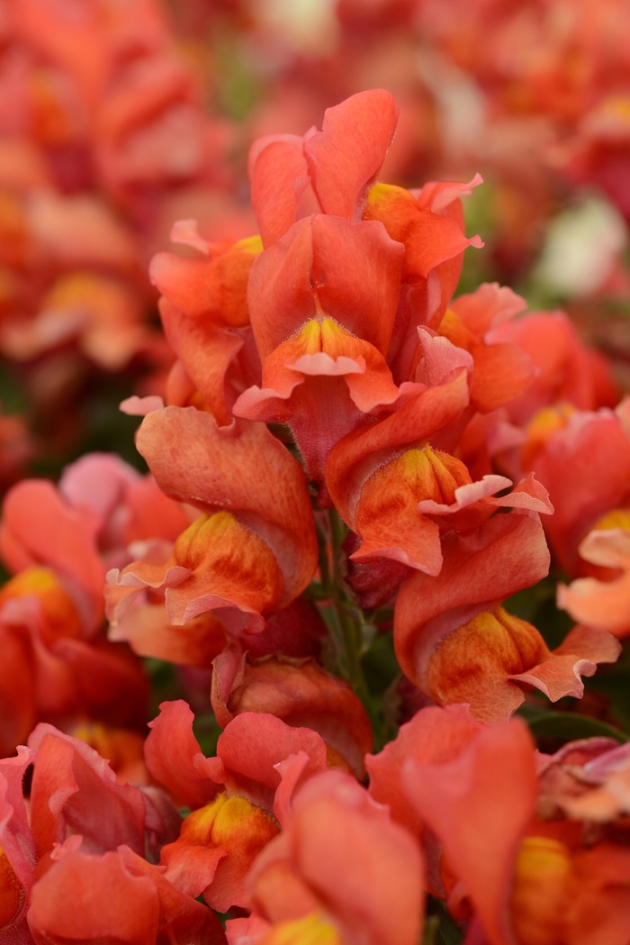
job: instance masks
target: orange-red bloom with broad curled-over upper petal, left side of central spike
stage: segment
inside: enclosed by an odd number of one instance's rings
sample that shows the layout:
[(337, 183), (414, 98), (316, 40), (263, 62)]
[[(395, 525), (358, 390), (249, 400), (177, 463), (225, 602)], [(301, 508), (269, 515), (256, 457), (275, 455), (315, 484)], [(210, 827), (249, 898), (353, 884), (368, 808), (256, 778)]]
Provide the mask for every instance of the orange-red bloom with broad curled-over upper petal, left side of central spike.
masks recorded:
[[(145, 589), (162, 592), (171, 624), (213, 611), (227, 627), (260, 632), (315, 572), (317, 544), (304, 474), (263, 426), (218, 427), (194, 407), (150, 413), (137, 436), (162, 490), (200, 508), (173, 546), (111, 571), (112, 622)], [(214, 633), (214, 630), (213, 630)]]

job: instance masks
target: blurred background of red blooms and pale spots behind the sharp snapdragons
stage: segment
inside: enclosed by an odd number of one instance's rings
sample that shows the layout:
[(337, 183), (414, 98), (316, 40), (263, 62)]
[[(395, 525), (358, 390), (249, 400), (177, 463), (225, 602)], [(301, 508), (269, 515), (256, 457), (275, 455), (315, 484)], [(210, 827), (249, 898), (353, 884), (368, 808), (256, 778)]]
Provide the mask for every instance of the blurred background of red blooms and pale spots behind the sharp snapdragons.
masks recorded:
[(458, 291), (563, 308), (630, 387), (627, 0), (2, 0), (4, 486), (142, 462), (118, 404), (172, 363), (151, 254), (179, 218), (255, 232), (251, 142), (375, 87), (400, 106), (383, 180), (484, 177)]

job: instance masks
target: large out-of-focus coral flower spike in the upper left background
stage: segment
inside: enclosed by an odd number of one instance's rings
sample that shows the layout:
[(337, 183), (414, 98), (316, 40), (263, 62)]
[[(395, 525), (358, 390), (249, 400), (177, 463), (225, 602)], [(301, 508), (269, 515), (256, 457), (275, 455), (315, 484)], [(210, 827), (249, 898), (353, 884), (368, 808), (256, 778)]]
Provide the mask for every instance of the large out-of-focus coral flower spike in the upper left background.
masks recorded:
[(80, 436), (89, 370), (161, 385), (172, 357), (145, 268), (191, 199), (230, 194), (231, 130), (153, 0), (0, 15), (0, 353), (54, 452)]

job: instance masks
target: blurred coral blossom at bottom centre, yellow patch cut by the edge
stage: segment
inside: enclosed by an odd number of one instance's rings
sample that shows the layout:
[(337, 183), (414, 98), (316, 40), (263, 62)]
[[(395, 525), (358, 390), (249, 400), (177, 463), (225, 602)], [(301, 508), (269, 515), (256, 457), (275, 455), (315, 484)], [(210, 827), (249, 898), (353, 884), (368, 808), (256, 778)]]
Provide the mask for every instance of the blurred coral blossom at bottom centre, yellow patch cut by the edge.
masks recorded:
[(268, 945), (415, 945), (420, 934), (417, 845), (341, 772), (301, 788), (285, 832), (256, 860), (248, 885), (254, 913), (228, 923), (230, 945), (252, 937)]

